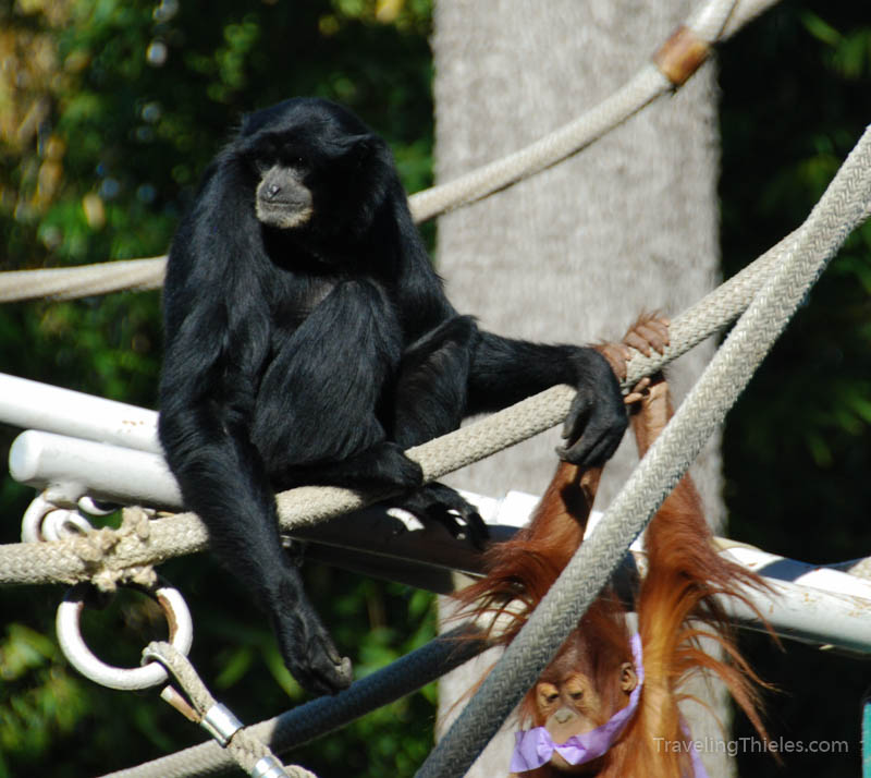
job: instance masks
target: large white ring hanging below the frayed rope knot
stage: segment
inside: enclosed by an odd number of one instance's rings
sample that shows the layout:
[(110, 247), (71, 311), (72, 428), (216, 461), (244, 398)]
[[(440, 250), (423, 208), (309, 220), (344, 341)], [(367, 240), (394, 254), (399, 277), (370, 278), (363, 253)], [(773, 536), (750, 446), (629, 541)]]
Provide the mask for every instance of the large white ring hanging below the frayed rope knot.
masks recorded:
[[(130, 691), (148, 689), (165, 682), (169, 677), (167, 670), (157, 661), (150, 661), (144, 667), (123, 668), (107, 665), (94, 656), (82, 637), (78, 625), (88, 585), (85, 583), (73, 586), (58, 606), (56, 619), (58, 642), (70, 664), (86, 678), (109, 689)], [(157, 584), (152, 588), (142, 586), (135, 588), (157, 600), (167, 617), (169, 642), (186, 656), (194, 641), (194, 625), (187, 604), (179, 591), (165, 584)]]

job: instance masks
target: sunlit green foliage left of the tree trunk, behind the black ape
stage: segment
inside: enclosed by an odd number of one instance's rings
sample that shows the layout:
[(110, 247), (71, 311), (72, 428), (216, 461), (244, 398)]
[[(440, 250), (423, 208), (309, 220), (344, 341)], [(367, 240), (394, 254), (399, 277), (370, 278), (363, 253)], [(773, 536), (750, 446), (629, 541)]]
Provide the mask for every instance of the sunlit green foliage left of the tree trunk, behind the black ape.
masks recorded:
[[(293, 95), (348, 104), (391, 142), (406, 185), (428, 185), (429, 14), (419, 1), (0, 2), (0, 268), (164, 253), (240, 116)], [(2, 306), (0, 369), (154, 406), (159, 307), (156, 292)], [(15, 433), (0, 425), (4, 448)], [(0, 542), (16, 539), (32, 497), (0, 482)], [(358, 673), (433, 634), (430, 597), (309, 567), (309, 589)], [(261, 615), (211, 560), (161, 572), (194, 610), (198, 669), (243, 720), (305, 698)], [(0, 778), (97, 775), (203, 740), (156, 693), (105, 690), (68, 669), (48, 637), (60, 591), (2, 597)], [(160, 636), (149, 613), (126, 596), (86, 611), (89, 645), (135, 665)], [(322, 776), (349, 764), (359, 776), (412, 775), (430, 746), (432, 705), (432, 690), (413, 695), (296, 756)]]

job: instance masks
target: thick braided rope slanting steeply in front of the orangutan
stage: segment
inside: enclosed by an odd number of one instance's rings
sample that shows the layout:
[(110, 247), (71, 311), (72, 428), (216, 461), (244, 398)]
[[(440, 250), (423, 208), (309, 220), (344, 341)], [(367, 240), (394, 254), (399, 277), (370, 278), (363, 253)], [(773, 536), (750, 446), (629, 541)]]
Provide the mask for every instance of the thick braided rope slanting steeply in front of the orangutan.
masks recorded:
[(864, 218), (869, 206), (871, 130), (862, 135), (795, 235), (785, 260), (766, 279), (596, 532), (580, 546), (478, 693), (432, 751), (417, 774), (419, 778), (466, 773), (722, 423), (808, 290)]

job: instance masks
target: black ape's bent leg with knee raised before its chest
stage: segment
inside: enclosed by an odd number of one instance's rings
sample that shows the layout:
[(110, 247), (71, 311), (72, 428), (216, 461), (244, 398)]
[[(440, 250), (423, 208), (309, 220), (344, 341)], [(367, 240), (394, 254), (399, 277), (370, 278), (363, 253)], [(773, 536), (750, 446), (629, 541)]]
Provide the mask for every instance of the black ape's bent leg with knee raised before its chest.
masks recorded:
[(382, 290), (344, 281), (280, 343), (253, 433), (277, 488), (420, 484), (379, 413), (402, 356), (398, 331)]

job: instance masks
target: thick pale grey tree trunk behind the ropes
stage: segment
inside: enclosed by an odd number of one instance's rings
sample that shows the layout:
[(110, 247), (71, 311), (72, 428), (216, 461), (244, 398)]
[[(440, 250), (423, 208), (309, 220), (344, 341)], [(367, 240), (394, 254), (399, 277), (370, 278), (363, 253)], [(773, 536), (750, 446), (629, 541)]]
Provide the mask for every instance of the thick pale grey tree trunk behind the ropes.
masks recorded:
[[(514, 151), (597, 105), (645, 64), (688, 10), (684, 0), (439, 0), (438, 181)], [(696, 302), (719, 271), (716, 120), (709, 64), (676, 96), (573, 159), (442, 217), (438, 263), (451, 300), (501, 335), (573, 343), (621, 338), (641, 312), (674, 315)], [(704, 344), (674, 364), (676, 398), (712, 349)], [(540, 494), (557, 443), (551, 430), (451, 483), (495, 497), (510, 489)], [(613, 499), (636, 461), (627, 437), (606, 469), (598, 508)], [(709, 521), (720, 527), (719, 441), (692, 472)], [(443, 682), (440, 720), (458, 713), (455, 700), (482, 666), (461, 668)], [(716, 709), (727, 721), (722, 703)], [(694, 738), (722, 739), (712, 717), (702, 721), (699, 712), (698, 705), (687, 712)], [(505, 775), (512, 742), (496, 738), (468, 775)], [(702, 758), (712, 778), (733, 774), (724, 754)]]

